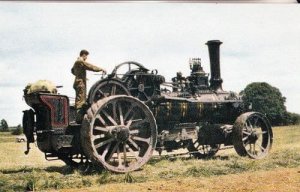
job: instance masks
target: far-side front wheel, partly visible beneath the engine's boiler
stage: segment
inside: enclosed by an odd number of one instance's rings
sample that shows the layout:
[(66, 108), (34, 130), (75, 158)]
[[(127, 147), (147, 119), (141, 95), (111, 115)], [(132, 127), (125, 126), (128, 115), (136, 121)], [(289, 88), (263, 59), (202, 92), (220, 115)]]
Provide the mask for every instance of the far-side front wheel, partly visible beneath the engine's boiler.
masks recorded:
[(198, 140), (190, 141), (188, 147), (188, 151), (196, 158), (210, 158), (214, 156), (220, 149), (219, 144), (213, 145), (202, 145)]

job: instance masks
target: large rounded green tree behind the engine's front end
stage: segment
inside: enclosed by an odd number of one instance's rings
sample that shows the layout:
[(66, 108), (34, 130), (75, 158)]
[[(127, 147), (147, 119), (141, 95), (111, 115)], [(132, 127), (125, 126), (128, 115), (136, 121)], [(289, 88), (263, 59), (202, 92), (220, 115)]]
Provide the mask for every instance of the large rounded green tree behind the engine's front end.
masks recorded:
[(255, 82), (247, 85), (241, 92), (246, 105), (252, 106), (252, 111), (266, 114), (272, 125), (286, 123), (286, 98), (278, 88), (265, 82)]

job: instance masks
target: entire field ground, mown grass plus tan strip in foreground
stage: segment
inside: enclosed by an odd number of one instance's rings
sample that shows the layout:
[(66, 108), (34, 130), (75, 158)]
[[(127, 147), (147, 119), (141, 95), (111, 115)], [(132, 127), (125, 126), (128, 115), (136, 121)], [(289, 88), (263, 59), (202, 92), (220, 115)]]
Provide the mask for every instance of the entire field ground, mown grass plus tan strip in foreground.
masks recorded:
[(142, 170), (84, 173), (60, 161), (46, 161), (32, 145), (0, 133), (0, 191), (300, 191), (300, 126), (276, 127), (271, 153), (262, 160), (221, 150), (209, 160), (151, 159)]

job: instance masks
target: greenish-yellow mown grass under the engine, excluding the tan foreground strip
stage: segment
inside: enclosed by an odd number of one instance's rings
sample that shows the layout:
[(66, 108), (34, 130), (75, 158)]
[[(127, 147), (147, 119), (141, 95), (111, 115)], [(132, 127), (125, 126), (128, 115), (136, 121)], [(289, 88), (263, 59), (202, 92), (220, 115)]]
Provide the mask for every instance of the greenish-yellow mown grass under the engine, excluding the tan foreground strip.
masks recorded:
[[(14, 137), (0, 135), (0, 191), (59, 190), (100, 186), (107, 183), (143, 183), (172, 178), (208, 178), (220, 175), (300, 167), (300, 126), (276, 127), (271, 153), (262, 160), (239, 157), (233, 149), (220, 151), (216, 157), (197, 160), (189, 157), (151, 159), (142, 170), (114, 174), (105, 170), (74, 170), (62, 162), (48, 162), (32, 146), (25, 156), (25, 144)], [(5, 140), (2, 140), (6, 137)]]

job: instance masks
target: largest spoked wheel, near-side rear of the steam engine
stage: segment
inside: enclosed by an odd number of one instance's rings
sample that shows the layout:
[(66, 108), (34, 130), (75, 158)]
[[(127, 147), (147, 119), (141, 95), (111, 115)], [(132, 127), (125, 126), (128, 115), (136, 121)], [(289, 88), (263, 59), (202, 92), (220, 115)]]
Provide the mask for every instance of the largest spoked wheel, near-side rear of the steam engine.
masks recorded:
[(85, 115), (81, 131), (86, 155), (106, 169), (120, 173), (144, 165), (152, 156), (157, 139), (150, 109), (126, 95), (94, 103)]

